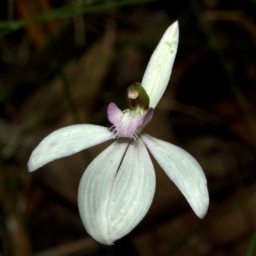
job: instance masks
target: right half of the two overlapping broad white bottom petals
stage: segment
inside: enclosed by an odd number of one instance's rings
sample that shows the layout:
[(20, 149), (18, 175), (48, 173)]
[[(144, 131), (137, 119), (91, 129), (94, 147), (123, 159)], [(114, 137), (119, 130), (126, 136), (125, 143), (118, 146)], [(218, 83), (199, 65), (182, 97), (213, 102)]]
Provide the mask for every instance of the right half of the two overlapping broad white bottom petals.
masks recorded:
[(108, 207), (109, 237), (116, 241), (147, 214), (156, 189), (154, 166), (143, 141), (132, 140), (115, 177)]

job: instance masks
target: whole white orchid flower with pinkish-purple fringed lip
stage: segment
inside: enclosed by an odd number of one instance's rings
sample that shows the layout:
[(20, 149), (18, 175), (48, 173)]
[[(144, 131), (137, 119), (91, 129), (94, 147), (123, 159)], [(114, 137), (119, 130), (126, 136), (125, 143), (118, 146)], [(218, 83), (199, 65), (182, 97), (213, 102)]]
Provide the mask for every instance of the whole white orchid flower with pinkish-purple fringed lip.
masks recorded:
[(156, 188), (148, 150), (196, 215), (204, 218), (207, 212), (207, 180), (195, 158), (182, 148), (142, 133), (170, 79), (178, 40), (178, 22), (174, 22), (150, 58), (142, 85), (134, 83), (127, 89), (130, 109), (121, 111), (114, 103), (109, 104), (111, 129), (91, 124), (64, 127), (44, 138), (29, 158), (28, 169), (33, 172), (54, 159), (118, 138), (90, 163), (79, 184), (81, 219), (88, 234), (99, 243), (113, 244), (147, 213)]

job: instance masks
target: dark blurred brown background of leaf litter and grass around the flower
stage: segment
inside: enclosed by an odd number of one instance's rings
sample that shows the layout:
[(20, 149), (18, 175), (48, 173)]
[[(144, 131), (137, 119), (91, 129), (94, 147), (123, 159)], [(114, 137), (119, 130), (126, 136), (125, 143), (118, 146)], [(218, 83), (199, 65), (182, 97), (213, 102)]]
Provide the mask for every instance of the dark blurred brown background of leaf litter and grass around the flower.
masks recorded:
[[(0, 255), (256, 255), (256, 1), (0, 2)], [(110, 127), (172, 22), (172, 77), (145, 132), (202, 165), (210, 205), (196, 217), (154, 162), (156, 195), (138, 227), (103, 246), (86, 234), (77, 187), (110, 143), (34, 173), (38, 143), (72, 124)]]

